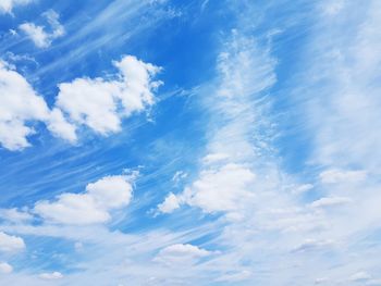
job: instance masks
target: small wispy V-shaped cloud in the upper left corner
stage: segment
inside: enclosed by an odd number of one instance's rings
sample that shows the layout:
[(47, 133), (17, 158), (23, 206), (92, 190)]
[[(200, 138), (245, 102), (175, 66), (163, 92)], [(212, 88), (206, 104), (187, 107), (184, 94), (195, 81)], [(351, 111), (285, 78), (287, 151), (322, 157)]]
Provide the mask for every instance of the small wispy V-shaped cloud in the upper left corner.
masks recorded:
[(49, 10), (42, 14), (50, 25), (50, 33), (46, 32), (46, 27), (37, 26), (34, 23), (24, 23), (19, 28), (24, 32), (38, 48), (47, 48), (51, 45), (53, 39), (64, 35), (64, 28), (59, 22), (59, 15)]

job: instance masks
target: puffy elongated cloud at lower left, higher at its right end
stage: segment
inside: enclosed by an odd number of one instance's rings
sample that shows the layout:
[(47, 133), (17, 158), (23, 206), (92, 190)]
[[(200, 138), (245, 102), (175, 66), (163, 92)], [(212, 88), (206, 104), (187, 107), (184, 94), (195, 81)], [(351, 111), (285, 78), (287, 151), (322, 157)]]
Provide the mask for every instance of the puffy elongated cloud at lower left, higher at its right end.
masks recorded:
[(62, 194), (56, 201), (38, 201), (34, 212), (47, 221), (85, 225), (106, 223), (110, 211), (125, 207), (133, 187), (125, 176), (107, 176), (88, 184), (83, 194)]

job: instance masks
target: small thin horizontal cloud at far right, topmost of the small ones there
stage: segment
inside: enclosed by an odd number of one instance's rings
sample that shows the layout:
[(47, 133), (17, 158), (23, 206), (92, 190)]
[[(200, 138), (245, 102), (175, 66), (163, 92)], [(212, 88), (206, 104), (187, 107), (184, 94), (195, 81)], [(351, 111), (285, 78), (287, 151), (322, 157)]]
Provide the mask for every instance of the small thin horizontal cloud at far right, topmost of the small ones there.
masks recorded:
[(367, 177), (367, 172), (361, 170), (345, 171), (332, 169), (320, 173), (319, 177), (323, 184), (358, 183)]

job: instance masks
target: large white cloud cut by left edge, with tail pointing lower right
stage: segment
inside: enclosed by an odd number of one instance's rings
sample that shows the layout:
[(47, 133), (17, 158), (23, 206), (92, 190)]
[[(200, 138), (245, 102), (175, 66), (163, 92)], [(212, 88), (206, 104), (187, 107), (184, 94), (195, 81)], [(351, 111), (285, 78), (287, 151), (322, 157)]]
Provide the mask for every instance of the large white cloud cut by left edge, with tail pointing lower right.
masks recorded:
[(74, 130), (59, 111), (50, 112), (26, 79), (13, 67), (0, 61), (0, 144), (9, 150), (21, 150), (29, 146), (27, 136), (35, 130), (29, 121), (48, 124), (57, 136), (75, 140)]

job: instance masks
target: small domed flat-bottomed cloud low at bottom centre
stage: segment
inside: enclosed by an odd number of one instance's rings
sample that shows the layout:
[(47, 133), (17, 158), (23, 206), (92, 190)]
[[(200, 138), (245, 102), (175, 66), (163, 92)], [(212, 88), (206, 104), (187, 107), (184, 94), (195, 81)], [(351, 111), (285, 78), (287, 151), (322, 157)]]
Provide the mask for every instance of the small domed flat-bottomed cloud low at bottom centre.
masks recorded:
[(211, 251), (197, 246), (176, 244), (161, 249), (153, 261), (167, 265), (189, 265), (210, 254)]

